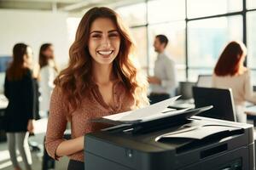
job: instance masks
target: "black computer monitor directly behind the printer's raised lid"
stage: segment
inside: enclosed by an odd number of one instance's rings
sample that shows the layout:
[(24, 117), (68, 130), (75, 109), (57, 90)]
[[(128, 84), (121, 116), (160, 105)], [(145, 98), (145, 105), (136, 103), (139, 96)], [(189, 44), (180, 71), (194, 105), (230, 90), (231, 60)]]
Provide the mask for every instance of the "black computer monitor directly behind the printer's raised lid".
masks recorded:
[(236, 122), (235, 104), (231, 89), (193, 87), (195, 108), (213, 105), (209, 111), (198, 116), (206, 116)]

